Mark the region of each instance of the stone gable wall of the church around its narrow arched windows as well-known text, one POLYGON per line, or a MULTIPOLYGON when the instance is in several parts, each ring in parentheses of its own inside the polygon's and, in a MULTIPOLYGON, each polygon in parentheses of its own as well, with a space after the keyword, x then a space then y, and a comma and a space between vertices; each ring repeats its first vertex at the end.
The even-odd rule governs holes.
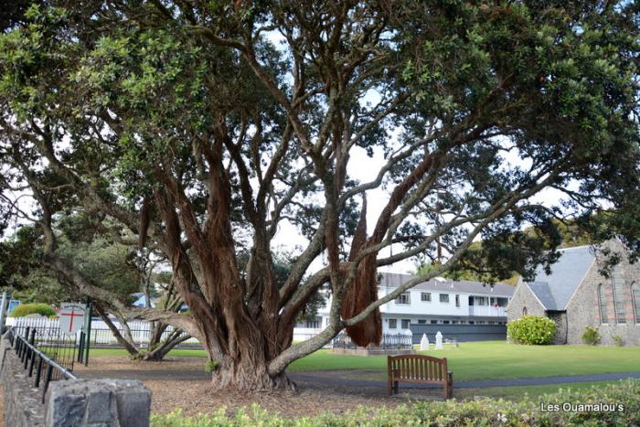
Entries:
MULTIPOLYGON (((619 240, 607 242, 606 247, 613 251, 624 251, 624 247, 619 240)), ((604 277, 600 273, 604 266, 602 258, 598 257, 597 262, 587 272, 581 285, 567 305, 567 342, 569 344, 581 344, 585 326, 592 326, 597 327, 600 331, 601 344, 613 345, 613 336, 620 336, 623 338, 625 346, 640 346, 640 323, 638 323, 640 318, 636 318, 636 316, 640 317, 640 313, 634 313, 631 295, 631 284, 640 281, 640 262, 631 264, 626 257, 623 257, 623 261, 618 264, 624 277, 624 301, 621 304, 624 304, 624 318, 626 321, 624 324, 618 324, 615 319, 613 305, 612 279, 604 277), (601 319, 598 299, 598 286, 601 283, 603 284, 604 304, 606 304, 608 312, 606 319, 601 319)))

